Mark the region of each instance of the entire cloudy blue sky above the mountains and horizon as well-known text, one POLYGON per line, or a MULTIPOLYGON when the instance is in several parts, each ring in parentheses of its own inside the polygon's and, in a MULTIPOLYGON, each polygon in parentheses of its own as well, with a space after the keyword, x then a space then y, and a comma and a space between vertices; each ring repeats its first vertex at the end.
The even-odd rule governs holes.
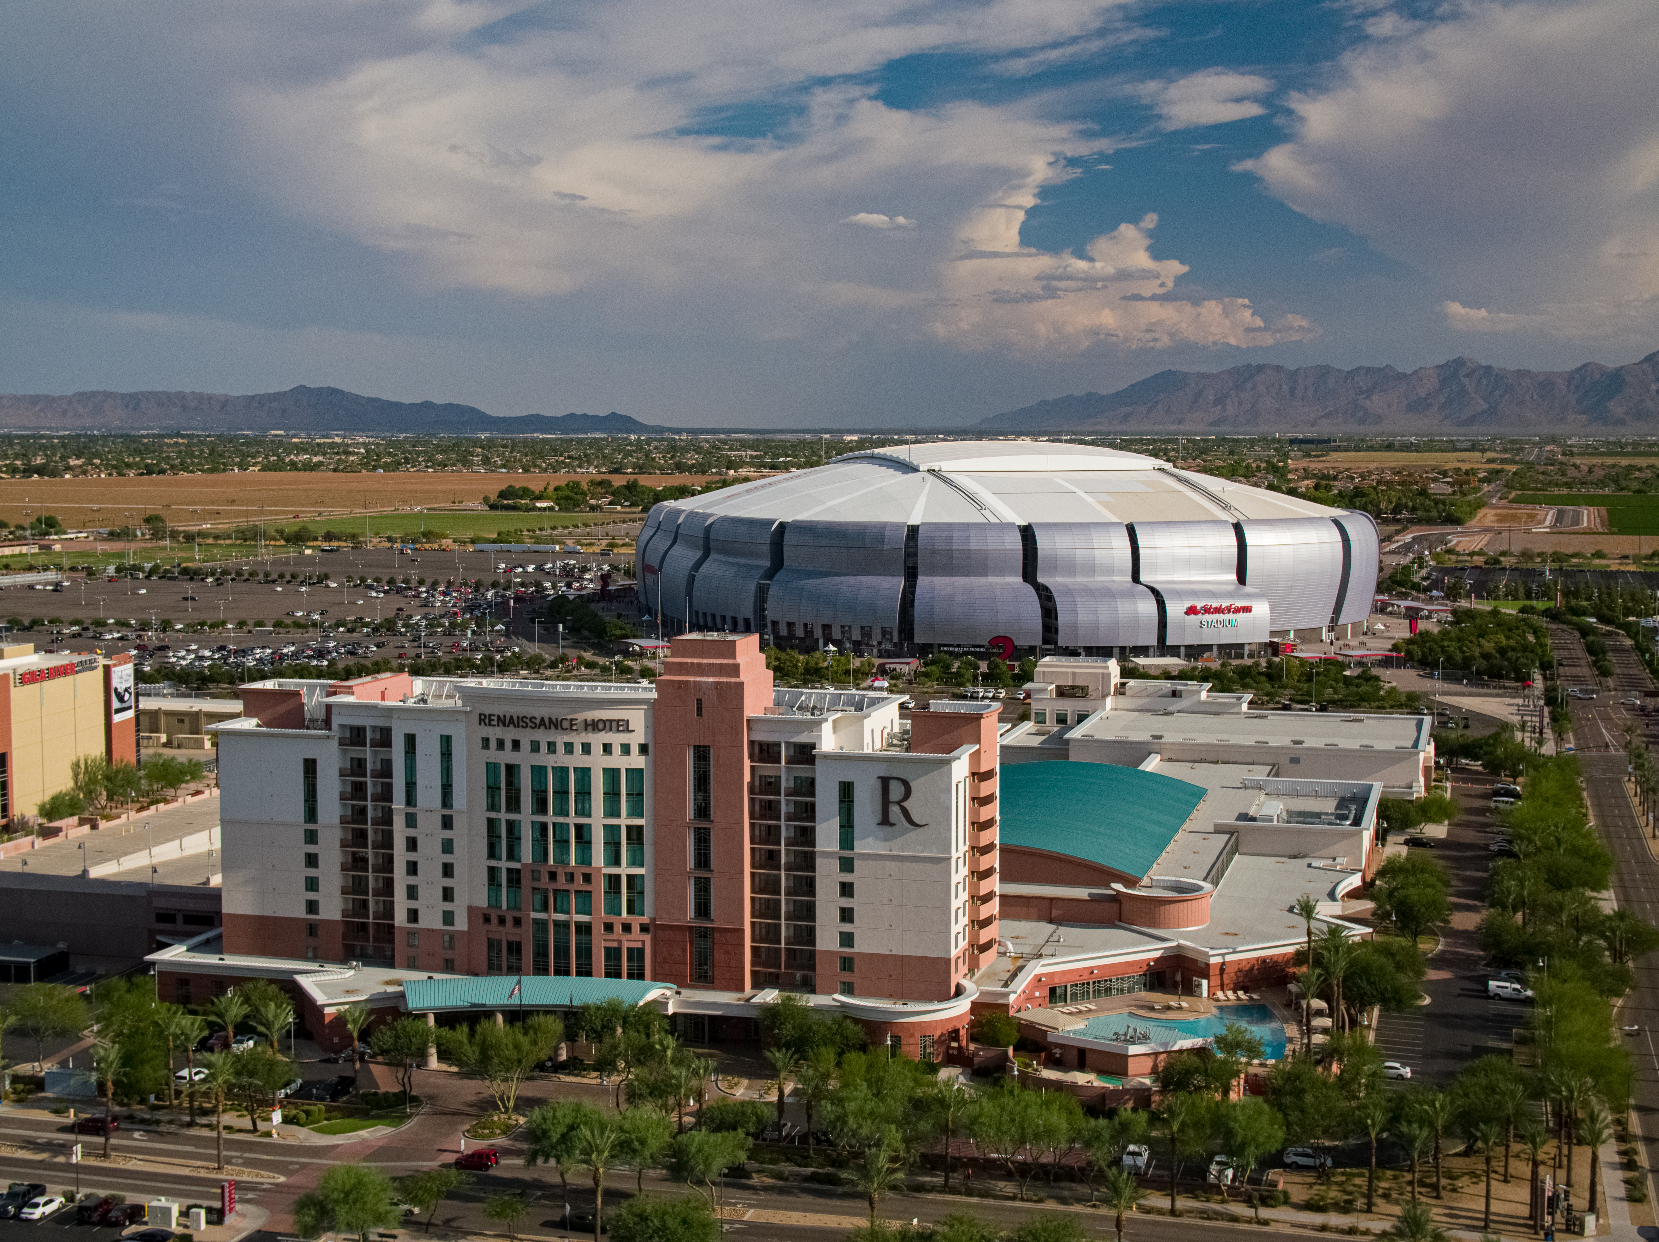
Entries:
POLYGON ((12 7, 0 390, 952 426, 1659 347, 1651 0, 12 7))

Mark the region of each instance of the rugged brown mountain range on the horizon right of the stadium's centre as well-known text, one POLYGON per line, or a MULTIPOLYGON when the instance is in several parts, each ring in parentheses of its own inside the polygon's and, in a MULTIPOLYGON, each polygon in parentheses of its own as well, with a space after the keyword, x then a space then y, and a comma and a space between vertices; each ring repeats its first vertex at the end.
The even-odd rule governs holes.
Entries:
POLYGON ((985 431, 1561 431, 1659 428, 1659 352, 1626 366, 1521 371, 1452 358, 1438 366, 1229 366, 1158 371, 1115 393, 1037 401, 985 431))

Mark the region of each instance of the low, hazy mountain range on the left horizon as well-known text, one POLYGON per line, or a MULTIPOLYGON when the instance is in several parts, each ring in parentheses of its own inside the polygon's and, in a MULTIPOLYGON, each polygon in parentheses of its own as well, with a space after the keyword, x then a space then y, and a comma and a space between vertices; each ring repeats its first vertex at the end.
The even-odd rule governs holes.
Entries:
POLYGON ((12 431, 347 431, 428 436, 650 434, 670 428, 619 415, 503 418, 469 405, 387 401, 343 388, 285 393, 0 393, 0 428, 12 431))

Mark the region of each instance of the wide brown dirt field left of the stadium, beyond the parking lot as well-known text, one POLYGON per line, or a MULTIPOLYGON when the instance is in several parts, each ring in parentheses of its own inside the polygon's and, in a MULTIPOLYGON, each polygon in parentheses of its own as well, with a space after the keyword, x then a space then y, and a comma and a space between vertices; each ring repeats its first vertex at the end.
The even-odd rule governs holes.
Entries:
MULTIPOLYGON (((169 526, 325 517, 476 504, 513 484, 536 488, 592 474, 154 474, 136 479, 0 479, 0 517, 50 512, 73 529, 129 526, 159 512, 169 526)), ((640 483, 707 483, 707 474, 642 474, 640 483)), ((622 479, 619 478, 617 483, 622 479)))

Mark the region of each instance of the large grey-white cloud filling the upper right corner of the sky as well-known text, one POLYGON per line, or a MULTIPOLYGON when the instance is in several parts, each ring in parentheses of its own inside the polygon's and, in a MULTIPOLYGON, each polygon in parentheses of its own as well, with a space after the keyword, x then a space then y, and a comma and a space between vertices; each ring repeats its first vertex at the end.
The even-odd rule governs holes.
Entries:
POLYGON ((1291 141, 1239 167, 1428 274, 1453 328, 1659 328, 1651 0, 1462 3, 1369 30, 1291 99, 1291 141))

